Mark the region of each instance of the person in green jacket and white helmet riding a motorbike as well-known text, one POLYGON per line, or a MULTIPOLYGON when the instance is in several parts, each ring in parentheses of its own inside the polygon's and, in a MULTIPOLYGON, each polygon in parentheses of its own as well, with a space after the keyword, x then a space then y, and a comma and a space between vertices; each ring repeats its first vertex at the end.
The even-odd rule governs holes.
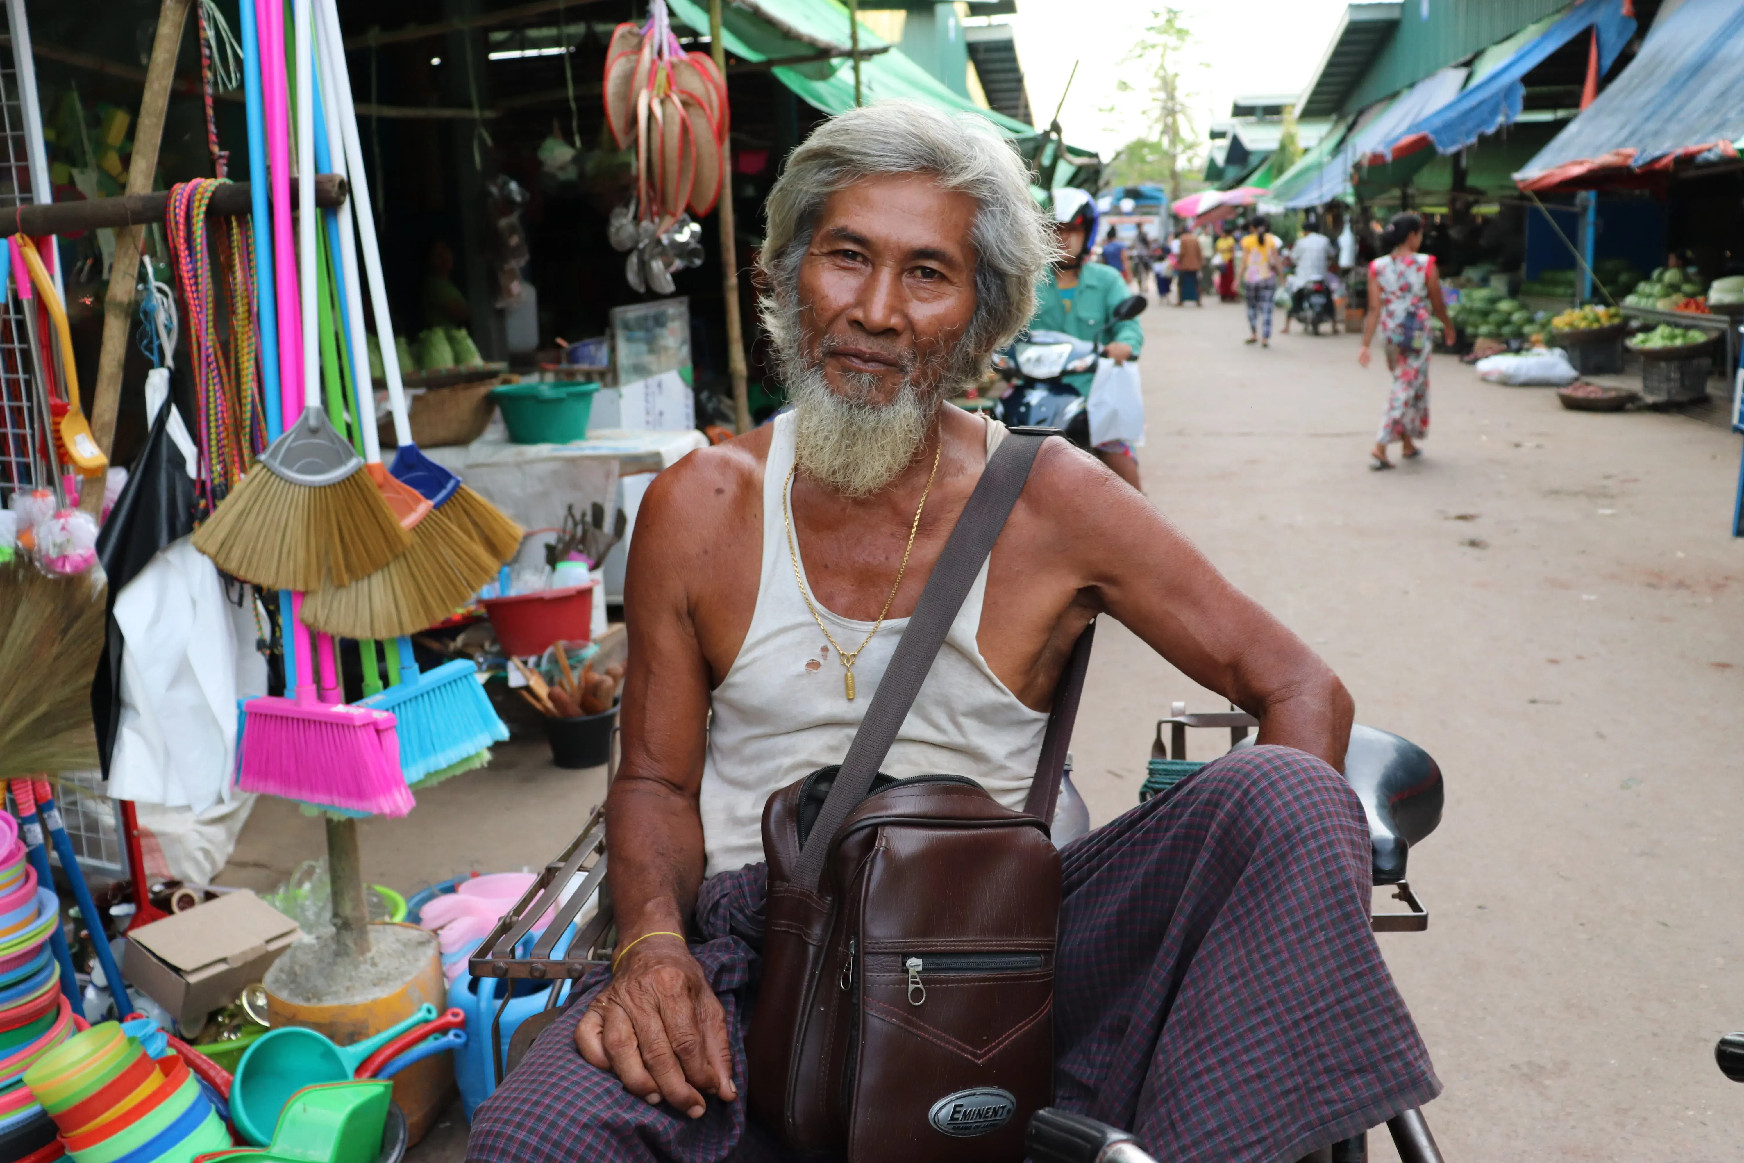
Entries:
MULTIPOLYGON (((1137 319, 1121 319, 1113 328, 1109 316, 1132 295, 1120 272, 1106 263, 1085 262, 1090 241, 1095 237, 1095 199, 1085 190, 1062 188, 1053 192, 1055 230, 1066 253, 1036 288, 1036 314, 1029 321, 1032 331, 1064 331, 1092 343, 1107 342, 1106 354, 1114 363, 1137 359, 1144 347, 1144 330, 1137 319)), ((1090 394, 1093 371, 1062 377, 1080 396, 1090 394)), ((1139 488, 1139 459, 1127 441, 1097 445, 1102 464, 1123 481, 1139 488)))

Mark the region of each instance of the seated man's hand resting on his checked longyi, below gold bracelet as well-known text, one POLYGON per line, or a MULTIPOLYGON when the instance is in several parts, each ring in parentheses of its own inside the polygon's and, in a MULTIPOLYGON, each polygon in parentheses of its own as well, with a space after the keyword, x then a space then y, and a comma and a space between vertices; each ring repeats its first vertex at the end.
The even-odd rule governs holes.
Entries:
POLYGON ((673 936, 626 947, 612 983, 576 1025, 576 1048, 630 1093, 664 1098, 691 1118, 703 1116, 703 1093, 738 1098, 726 1011, 703 966, 673 936))

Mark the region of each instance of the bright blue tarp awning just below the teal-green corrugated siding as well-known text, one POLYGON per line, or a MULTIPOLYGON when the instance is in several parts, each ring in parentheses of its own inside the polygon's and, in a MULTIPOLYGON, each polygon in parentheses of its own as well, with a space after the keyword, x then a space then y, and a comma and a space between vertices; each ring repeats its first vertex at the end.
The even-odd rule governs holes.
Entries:
POLYGON ((1385 141, 1381 152, 1397 159, 1434 145, 1439 153, 1453 153, 1512 124, 1526 105, 1526 73, 1589 30, 1599 37, 1599 71, 1610 71, 1636 30, 1634 17, 1624 16, 1624 5, 1625 0, 1577 0, 1561 19, 1489 68, 1465 92, 1414 120, 1393 141, 1385 141))

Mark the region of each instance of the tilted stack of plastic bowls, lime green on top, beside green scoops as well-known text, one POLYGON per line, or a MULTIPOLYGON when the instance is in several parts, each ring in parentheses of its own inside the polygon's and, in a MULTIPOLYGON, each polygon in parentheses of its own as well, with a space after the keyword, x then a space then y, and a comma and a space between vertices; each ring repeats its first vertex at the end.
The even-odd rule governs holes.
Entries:
POLYGON ((73 1163, 190 1163, 232 1146, 187 1064, 152 1058, 115 1022, 44 1053, 24 1071, 24 1086, 73 1163))

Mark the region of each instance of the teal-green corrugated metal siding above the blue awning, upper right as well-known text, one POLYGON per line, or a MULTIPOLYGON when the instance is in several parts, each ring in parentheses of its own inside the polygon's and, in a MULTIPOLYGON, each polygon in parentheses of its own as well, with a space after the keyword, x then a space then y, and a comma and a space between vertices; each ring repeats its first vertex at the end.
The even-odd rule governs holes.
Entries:
POLYGON ((1393 38, 1345 98, 1343 112, 1355 113, 1568 7, 1568 0, 1407 2, 1393 38))

